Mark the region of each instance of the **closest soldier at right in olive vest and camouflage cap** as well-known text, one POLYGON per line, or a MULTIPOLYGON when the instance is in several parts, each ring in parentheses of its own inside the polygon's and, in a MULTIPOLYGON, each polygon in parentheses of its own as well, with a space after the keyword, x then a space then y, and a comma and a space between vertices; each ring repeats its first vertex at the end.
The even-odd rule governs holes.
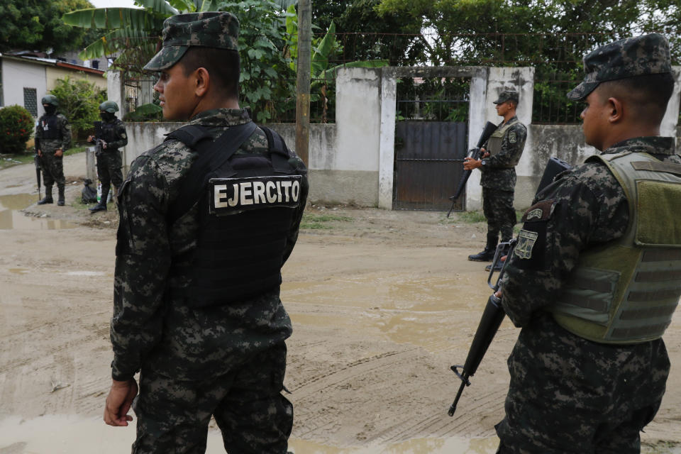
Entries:
POLYGON ((499 453, 638 453, 665 392, 681 295, 681 157, 660 122, 674 80, 659 34, 584 58, 586 143, 602 154, 536 196, 502 281, 523 329, 499 453))

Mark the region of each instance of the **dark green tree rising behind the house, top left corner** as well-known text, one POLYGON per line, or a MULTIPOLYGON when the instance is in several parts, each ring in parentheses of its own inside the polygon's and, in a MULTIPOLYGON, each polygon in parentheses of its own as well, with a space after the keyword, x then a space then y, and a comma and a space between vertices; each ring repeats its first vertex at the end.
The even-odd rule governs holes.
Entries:
POLYGON ((87 31, 65 24, 67 11, 92 7, 87 0, 3 0, 0 2, 0 52, 38 50, 59 53, 79 48, 87 31))

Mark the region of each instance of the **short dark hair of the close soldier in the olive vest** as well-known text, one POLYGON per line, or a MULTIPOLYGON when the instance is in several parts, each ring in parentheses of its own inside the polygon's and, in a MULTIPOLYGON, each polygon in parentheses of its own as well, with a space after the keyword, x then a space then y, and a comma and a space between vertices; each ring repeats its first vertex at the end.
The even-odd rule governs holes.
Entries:
POLYGON ((636 107, 634 115, 639 121, 659 125, 667 111, 674 92, 674 77, 664 74, 646 74, 625 79, 602 82, 604 99, 614 97, 636 107))

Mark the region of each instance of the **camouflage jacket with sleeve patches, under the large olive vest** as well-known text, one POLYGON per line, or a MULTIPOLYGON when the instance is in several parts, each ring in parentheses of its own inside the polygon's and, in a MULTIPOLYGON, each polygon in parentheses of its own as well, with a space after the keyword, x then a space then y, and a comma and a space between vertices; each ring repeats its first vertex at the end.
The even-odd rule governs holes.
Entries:
MULTIPOLYGON (((603 154, 649 153, 681 163, 672 138, 641 137, 612 145, 603 154)), ((599 162, 587 162, 560 174, 537 194, 523 217, 523 230, 536 233, 528 258, 514 253, 502 280, 502 305, 516 326, 527 326, 533 314, 556 301, 580 251, 621 238, 629 223, 624 189, 599 162), (541 210, 541 217, 537 215, 541 210), (535 210, 535 211, 533 211, 535 210), (531 221, 527 213, 533 211, 531 221)), ((522 234, 522 232, 521 232, 522 234)))

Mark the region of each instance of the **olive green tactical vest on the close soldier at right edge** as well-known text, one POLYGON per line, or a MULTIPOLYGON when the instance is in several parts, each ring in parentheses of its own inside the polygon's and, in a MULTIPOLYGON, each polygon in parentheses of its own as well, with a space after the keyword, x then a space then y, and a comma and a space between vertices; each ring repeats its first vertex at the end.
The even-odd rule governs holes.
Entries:
POLYGON ((560 326, 599 343, 662 337, 681 297, 681 165, 645 153, 596 155, 624 189, 622 238, 580 255, 558 302, 560 326))

